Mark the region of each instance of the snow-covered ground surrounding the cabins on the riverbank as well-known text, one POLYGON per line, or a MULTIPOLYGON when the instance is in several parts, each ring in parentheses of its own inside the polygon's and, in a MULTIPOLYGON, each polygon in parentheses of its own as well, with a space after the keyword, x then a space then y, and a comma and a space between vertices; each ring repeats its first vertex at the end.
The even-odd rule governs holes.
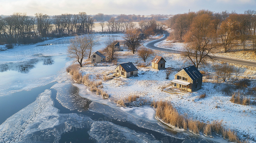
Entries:
MULTIPOLYGON (((157 44, 159 45, 159 44, 157 44)), ((174 49, 179 50, 183 44, 174 43, 174 49)), ((160 46, 162 47, 162 46, 160 46)), ((222 120, 227 128, 236 130, 239 136, 245 135, 251 142, 255 142, 256 137, 256 106, 243 106, 231 103, 231 97, 225 96, 221 89, 224 88, 224 83, 214 83, 213 80, 206 80, 204 77, 203 86, 200 90, 193 93, 186 94, 169 94, 162 91, 162 87, 168 85, 170 80, 174 79, 174 75, 182 68, 191 65, 189 62, 184 62, 184 59, 179 54, 166 53, 155 50, 155 55, 162 56, 166 60, 166 67, 174 68, 170 79, 165 79, 165 70, 153 69, 150 65, 153 58, 146 60, 149 66, 140 68, 138 77, 130 78, 114 78, 112 80, 103 81, 103 76, 112 75, 117 65, 112 63, 98 63, 96 66, 92 64, 85 65, 80 68, 80 71, 85 74, 92 74, 94 80, 102 80, 103 90, 110 95, 110 99, 119 99, 127 97, 130 94, 137 94, 141 98, 147 100, 169 100, 177 108, 181 114, 187 114, 189 117, 198 119, 204 122, 211 122, 213 120, 222 120), (206 93, 206 98, 200 99, 201 94, 206 93), (215 108, 216 105, 219 108, 215 108)), ((131 51, 124 49, 124 51, 117 52, 117 62, 133 62, 135 66, 138 63, 144 63, 138 58, 137 54, 132 54, 131 51)), ((215 62, 216 63, 216 62, 215 62)), ((214 72, 212 70, 212 62, 200 66, 200 70, 214 72)), ((253 67, 233 64, 235 66, 243 67, 243 74, 240 78, 252 78, 251 87, 256 86, 255 77, 256 72, 253 67)), ((217 82, 217 81, 216 81, 217 82)))

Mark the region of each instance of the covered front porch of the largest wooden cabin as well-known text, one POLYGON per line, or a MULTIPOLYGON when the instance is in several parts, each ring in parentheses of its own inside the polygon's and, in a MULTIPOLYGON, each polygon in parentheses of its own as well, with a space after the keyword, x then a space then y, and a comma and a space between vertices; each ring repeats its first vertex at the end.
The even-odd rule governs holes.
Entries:
POLYGON ((190 82, 186 82, 183 80, 171 80, 172 83, 172 89, 179 89, 181 92, 191 92, 190 82))

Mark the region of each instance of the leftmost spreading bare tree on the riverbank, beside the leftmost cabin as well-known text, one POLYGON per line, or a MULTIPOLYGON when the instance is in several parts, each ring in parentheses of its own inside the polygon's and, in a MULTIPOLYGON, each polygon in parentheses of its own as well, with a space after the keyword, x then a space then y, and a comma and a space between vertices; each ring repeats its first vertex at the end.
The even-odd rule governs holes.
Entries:
POLYGON ((86 42, 85 36, 75 36, 74 39, 70 39, 70 45, 68 46, 67 53, 70 58, 75 58, 82 67, 83 58, 89 54, 89 45, 86 42))

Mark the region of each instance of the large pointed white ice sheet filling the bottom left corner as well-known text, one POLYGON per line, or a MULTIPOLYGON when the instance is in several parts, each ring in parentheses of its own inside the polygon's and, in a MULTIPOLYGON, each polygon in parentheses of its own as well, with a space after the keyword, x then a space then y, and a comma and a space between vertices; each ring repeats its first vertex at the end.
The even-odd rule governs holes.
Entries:
POLYGON ((91 125, 92 119, 75 113, 58 114, 51 90, 0 125, 0 142, 58 142, 61 134, 91 125))

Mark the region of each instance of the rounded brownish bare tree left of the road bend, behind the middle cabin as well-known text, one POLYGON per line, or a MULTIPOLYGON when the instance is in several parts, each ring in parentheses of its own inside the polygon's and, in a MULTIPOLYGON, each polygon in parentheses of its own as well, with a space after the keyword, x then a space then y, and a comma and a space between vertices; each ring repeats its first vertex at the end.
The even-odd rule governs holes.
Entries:
POLYGON ((125 40, 125 45, 132 49, 133 54, 136 51, 136 49, 139 47, 140 45, 140 31, 137 28, 130 28, 130 29, 126 29, 126 33, 124 34, 123 39, 125 40))

